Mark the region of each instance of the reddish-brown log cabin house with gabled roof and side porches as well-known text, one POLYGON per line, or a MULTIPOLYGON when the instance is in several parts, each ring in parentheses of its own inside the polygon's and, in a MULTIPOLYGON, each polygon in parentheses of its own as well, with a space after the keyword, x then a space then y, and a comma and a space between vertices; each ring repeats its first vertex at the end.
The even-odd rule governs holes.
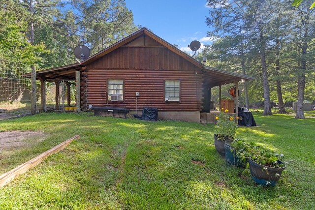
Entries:
POLYGON ((37 71, 36 78, 42 95, 45 80, 76 79, 78 111, 89 105, 131 113, 156 107, 161 119, 197 122, 210 112, 212 87, 253 79, 206 66, 145 28, 81 63, 37 71))

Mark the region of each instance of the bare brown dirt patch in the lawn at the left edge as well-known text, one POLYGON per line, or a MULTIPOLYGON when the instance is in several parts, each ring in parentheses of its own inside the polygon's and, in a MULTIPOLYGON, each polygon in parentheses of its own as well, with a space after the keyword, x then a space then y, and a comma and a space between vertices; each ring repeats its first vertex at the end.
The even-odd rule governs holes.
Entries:
POLYGON ((29 139, 35 138, 37 141, 42 141, 44 137, 44 133, 34 131, 0 132, 0 151, 21 148, 30 143, 27 141, 29 139))

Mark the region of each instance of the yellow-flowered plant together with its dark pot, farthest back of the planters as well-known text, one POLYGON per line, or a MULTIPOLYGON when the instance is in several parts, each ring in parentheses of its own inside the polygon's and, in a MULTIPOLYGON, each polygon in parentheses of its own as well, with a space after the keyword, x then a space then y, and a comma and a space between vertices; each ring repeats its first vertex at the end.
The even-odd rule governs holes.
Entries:
MULTIPOLYGON (((235 139, 235 133, 237 129, 237 124, 233 116, 228 114, 228 110, 221 109, 221 113, 216 117, 217 124, 215 126, 215 148, 216 150, 224 156, 224 142, 233 141, 235 139)), ((238 120, 238 117, 236 118, 238 120)))

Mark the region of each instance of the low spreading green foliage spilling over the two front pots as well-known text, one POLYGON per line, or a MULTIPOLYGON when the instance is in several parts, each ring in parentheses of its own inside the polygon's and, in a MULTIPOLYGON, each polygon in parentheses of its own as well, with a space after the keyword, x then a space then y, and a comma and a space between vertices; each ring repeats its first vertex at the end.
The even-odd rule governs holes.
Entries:
POLYGON ((253 142, 246 143, 241 140, 234 141, 232 146, 236 150, 236 157, 238 157, 239 162, 243 164, 246 164, 249 158, 260 165, 274 168, 284 167, 284 164, 278 162, 278 160, 284 159, 283 154, 278 154, 261 146, 257 146, 253 142))

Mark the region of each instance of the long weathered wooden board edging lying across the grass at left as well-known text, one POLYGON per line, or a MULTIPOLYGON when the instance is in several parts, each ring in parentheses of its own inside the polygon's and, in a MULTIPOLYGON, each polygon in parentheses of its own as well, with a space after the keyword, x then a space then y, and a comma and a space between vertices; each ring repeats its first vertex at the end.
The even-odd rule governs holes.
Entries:
POLYGON ((23 163, 22 165, 12 169, 9 172, 6 172, 5 174, 2 174, 0 176, 0 188, 3 187, 5 184, 9 183, 11 180, 13 180, 15 177, 19 176, 20 174, 23 174, 27 172, 29 169, 35 167, 40 162, 42 162, 45 158, 49 157, 52 154, 55 154, 59 152, 60 150, 63 150, 66 146, 68 146, 74 139, 80 139, 80 135, 75 135, 71 137, 68 140, 65 140, 63 143, 57 145, 56 147, 47 150, 37 157, 34 157, 33 159, 23 163))

